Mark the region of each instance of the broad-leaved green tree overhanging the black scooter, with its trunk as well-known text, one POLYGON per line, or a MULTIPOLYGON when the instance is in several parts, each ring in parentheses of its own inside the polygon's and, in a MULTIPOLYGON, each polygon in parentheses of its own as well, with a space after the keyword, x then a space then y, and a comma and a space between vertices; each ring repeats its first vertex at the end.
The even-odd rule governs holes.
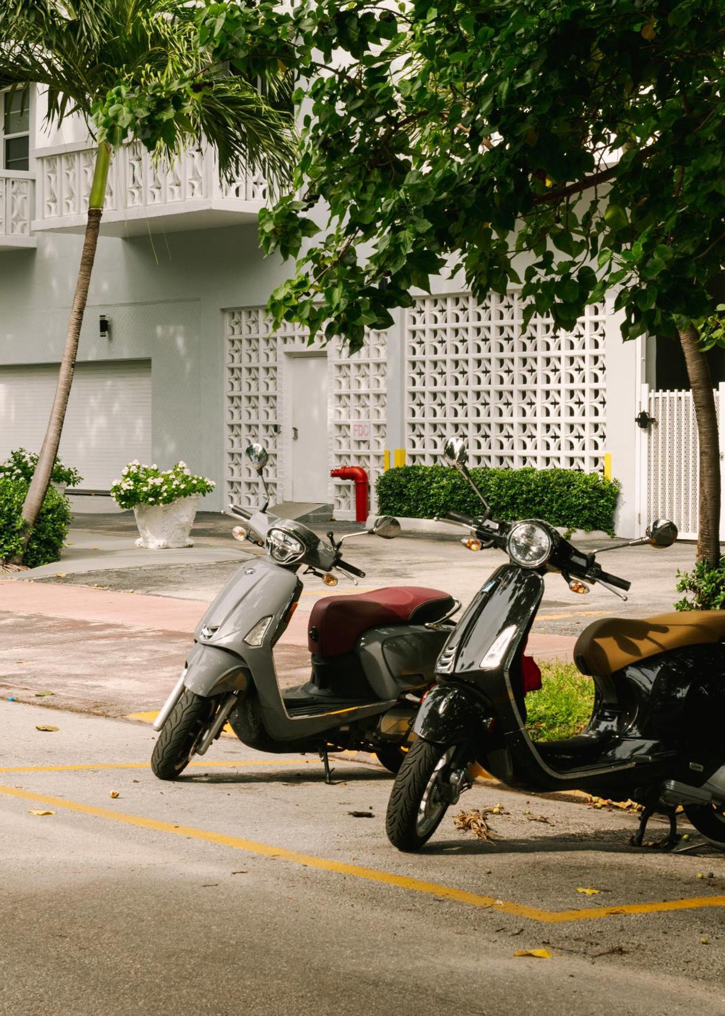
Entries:
MULTIPOLYGON (((275 317, 355 348, 435 273, 462 273, 479 300, 520 281, 526 321, 562 328, 613 289, 625 339, 684 352, 698 556, 716 563, 700 328, 725 244, 720 0, 307 0, 294 19, 301 157, 260 223, 268 251, 298 258, 275 317)), ((235 33, 217 40, 234 49, 235 33)))

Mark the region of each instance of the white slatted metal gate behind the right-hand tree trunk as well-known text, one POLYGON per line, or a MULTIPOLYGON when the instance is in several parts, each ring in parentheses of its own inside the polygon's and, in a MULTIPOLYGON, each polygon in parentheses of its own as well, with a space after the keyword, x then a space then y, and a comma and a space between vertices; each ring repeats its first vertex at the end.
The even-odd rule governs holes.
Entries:
MULTIPOLYGON (((725 385, 715 392, 720 448, 725 449, 720 412, 725 385)), ((690 391, 650 391, 642 386, 641 409, 651 420, 643 431, 640 484, 640 525, 670 518, 682 539, 697 539, 700 500, 698 427, 690 391)), ((720 455, 722 459, 722 452, 720 455)), ((723 532, 722 518, 720 531, 723 532)))

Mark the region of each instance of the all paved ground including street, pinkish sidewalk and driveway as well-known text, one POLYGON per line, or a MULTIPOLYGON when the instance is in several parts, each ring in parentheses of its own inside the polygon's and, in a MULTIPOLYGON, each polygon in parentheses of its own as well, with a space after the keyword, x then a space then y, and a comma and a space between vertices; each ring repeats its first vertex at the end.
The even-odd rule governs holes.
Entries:
MULTIPOLYGON (((202 517, 194 548, 144 552, 130 519, 85 518, 57 565, 0 580, 2 1016, 725 1016, 725 860, 691 829, 694 854, 636 849, 634 814, 483 780, 461 807, 502 806, 491 842, 449 815, 403 855, 368 756, 338 756, 328 786, 318 759, 227 735, 158 782, 150 719, 255 553, 229 527, 202 517)), ((345 557, 368 574, 334 592, 409 583, 465 604, 505 559, 459 539, 360 534, 345 557)), ((609 553, 627 602, 549 576, 530 650, 571 658, 591 620, 671 610, 694 557, 609 553)), ((308 582, 275 648, 282 685, 306 680, 309 612, 331 591, 308 582)))

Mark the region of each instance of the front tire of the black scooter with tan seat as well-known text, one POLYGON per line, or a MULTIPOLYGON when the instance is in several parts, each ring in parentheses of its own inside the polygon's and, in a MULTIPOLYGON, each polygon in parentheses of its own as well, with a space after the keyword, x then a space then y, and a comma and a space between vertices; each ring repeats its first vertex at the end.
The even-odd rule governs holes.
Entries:
POLYGON ((418 738, 405 756, 388 802, 385 831, 399 850, 418 850, 426 843, 448 811, 437 797, 437 771, 450 761, 455 748, 432 745, 418 738))

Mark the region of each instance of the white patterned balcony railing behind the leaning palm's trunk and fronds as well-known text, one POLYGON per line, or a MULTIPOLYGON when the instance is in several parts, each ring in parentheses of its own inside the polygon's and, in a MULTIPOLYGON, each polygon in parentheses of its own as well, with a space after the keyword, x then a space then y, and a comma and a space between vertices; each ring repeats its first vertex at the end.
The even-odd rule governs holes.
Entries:
MULTIPOLYGON (((37 151, 35 231, 85 228, 94 150, 67 144, 37 151)), ((145 148, 126 145, 114 156, 102 230, 117 237, 255 221, 267 201, 261 177, 222 186, 211 151, 187 151, 171 167, 155 166, 145 148)))

